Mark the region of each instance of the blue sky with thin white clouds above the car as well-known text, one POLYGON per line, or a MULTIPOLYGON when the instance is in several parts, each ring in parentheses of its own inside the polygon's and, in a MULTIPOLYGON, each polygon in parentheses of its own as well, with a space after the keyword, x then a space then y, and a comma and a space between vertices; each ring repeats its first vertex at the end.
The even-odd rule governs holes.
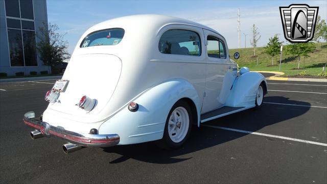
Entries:
POLYGON ((268 39, 280 34, 285 41, 279 6, 290 4, 319 6, 323 19, 327 17, 326 1, 58 1, 48 0, 48 21, 57 24, 60 31, 67 33, 68 52, 74 51, 77 41, 91 26, 115 17, 133 14, 162 14, 186 18, 199 22, 220 32, 228 47, 238 48, 237 10, 241 11, 241 48, 250 47, 251 27, 259 28, 264 46, 268 39))

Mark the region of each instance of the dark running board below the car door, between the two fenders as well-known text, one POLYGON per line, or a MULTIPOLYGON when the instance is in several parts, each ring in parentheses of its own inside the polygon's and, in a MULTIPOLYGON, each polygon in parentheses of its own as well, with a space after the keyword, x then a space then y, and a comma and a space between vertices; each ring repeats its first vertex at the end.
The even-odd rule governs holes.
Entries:
POLYGON ((242 110, 246 110, 249 108, 255 107, 255 105, 251 105, 248 107, 229 107, 229 106, 223 106, 219 109, 204 113, 201 115, 201 123, 214 120, 216 118, 224 117, 232 113, 236 113, 242 110))

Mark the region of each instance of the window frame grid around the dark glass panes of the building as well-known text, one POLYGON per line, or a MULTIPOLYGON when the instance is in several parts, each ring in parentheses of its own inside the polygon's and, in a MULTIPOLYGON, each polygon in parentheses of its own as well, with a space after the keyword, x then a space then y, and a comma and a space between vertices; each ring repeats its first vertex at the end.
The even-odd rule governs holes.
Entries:
MULTIPOLYGON (((5 0, 6 1, 6 0, 5 0)), ((36 54, 36 65, 35 66, 27 66, 25 63, 25 51, 24 51, 24 38, 23 38, 23 34, 22 31, 34 31, 35 34, 35 47, 36 47, 36 27, 35 27, 35 12, 34 12, 34 0, 32 0, 32 7, 33 7, 33 18, 34 19, 28 19, 28 18, 21 18, 21 12, 20 12, 20 1, 18 0, 18 8, 19 8, 19 18, 17 17, 12 17, 12 16, 7 16, 7 12, 6 12, 6 2, 4 1, 4 7, 5 7, 5 18, 6 18, 6 34, 7 34, 7 44, 8 44, 8 56, 9 56, 9 65, 10 67, 38 67, 39 66, 39 62, 38 62, 38 54, 37 54, 37 49, 35 48, 35 54, 36 54), (11 19, 16 19, 20 21, 20 29, 17 28, 8 28, 7 25, 7 18, 11 18, 11 19), (33 21, 34 24, 34 30, 29 30, 29 29, 22 29, 22 25, 21 25, 21 21, 22 20, 26 20, 26 21, 33 21), (11 65, 11 58, 10 58, 10 47, 9 47, 9 37, 8 37, 8 29, 15 29, 15 30, 20 30, 21 33, 21 42, 22 42, 22 56, 23 56, 23 63, 24 66, 12 66, 11 65)), ((7 0, 8 1, 8 0, 7 0)))

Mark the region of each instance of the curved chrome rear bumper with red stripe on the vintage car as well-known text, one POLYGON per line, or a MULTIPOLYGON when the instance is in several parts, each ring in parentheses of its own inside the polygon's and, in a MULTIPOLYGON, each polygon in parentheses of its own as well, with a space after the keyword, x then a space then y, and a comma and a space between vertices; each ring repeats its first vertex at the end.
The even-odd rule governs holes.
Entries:
POLYGON ((65 130, 61 127, 55 127, 43 122, 40 118, 35 118, 34 111, 25 113, 24 123, 36 130, 39 130, 43 136, 55 136, 66 142, 85 147, 110 147, 119 143, 120 137, 118 134, 88 134, 76 133, 65 130))

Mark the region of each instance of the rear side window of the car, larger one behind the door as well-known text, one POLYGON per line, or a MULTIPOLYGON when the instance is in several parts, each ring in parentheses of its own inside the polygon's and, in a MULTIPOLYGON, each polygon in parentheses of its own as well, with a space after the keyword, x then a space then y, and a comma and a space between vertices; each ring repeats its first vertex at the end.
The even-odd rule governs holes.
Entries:
POLYGON ((162 34, 158 49, 163 54, 200 56, 200 36, 194 31, 168 30, 162 34))

